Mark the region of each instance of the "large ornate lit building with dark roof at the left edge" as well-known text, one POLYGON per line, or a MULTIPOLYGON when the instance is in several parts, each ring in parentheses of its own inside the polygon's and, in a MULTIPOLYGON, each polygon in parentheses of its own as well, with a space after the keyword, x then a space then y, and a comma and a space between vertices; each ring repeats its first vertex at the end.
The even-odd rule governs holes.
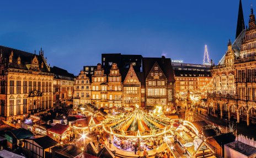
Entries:
POLYGON ((39 55, 0 46, 2 118, 23 118, 28 113, 51 109, 53 106, 53 80, 50 66, 39 55))

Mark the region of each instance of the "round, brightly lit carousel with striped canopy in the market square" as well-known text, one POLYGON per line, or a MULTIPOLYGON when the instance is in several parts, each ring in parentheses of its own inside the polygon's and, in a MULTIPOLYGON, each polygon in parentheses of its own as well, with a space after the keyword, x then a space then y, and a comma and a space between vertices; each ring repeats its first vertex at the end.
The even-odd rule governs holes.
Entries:
POLYGON ((165 146, 163 139, 171 128, 162 117, 141 109, 106 118, 102 126, 110 134, 109 144, 113 144, 114 148, 130 153, 146 149, 153 151, 151 155, 165 146))

